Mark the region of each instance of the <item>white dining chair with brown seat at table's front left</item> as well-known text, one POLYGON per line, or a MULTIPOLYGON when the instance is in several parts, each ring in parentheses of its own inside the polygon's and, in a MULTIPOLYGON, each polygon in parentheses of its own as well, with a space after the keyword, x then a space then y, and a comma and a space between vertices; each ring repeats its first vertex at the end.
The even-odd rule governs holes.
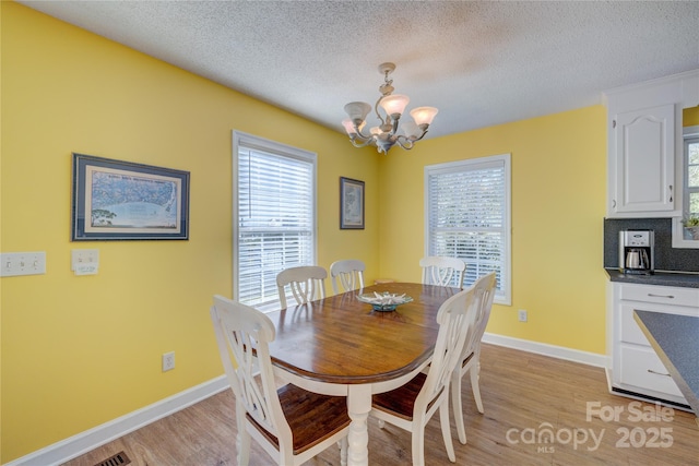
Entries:
POLYGON ((276 387, 269 351, 275 330, 261 311, 214 296, 211 319, 236 399, 237 464, 248 465, 254 439, 277 465, 286 466, 306 463, 340 442, 341 464, 346 465, 351 422, 346 397, 292 384, 276 387))

